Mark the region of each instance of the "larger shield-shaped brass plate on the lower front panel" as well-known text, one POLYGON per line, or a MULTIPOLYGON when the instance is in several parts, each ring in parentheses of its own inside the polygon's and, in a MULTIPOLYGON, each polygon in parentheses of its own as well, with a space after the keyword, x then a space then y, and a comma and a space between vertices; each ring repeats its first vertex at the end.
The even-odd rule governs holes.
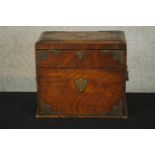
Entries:
POLYGON ((77 79, 75 80, 75 85, 76 85, 76 88, 80 91, 80 92, 83 92, 86 87, 87 87, 87 84, 88 84, 88 81, 87 79, 77 79))

